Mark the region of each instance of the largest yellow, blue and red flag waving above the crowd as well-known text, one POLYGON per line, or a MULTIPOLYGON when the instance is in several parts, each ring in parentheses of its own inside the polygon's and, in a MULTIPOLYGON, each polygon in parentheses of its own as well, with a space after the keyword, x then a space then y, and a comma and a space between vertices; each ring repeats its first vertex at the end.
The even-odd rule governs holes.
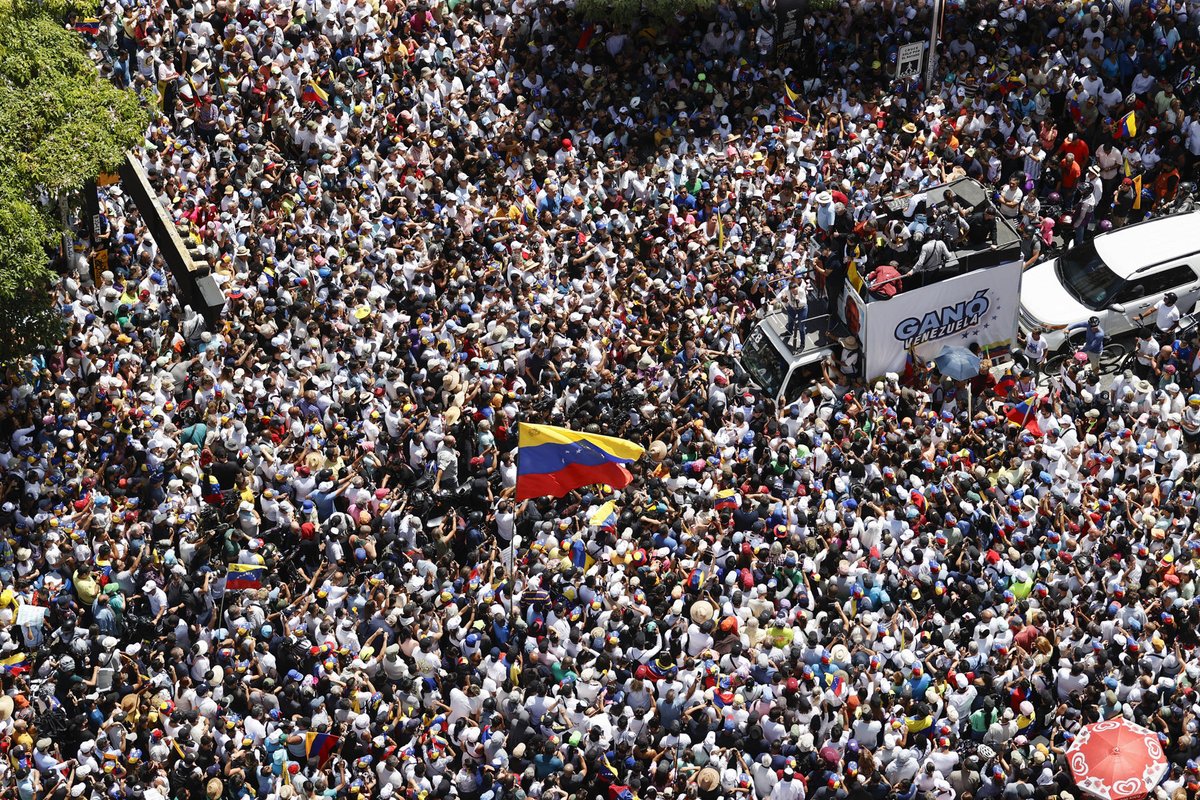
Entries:
POLYGON ((625 439, 581 433, 553 425, 521 423, 517 450, 517 500, 551 494, 560 498, 590 483, 624 488, 634 480, 625 464, 646 449, 625 439))

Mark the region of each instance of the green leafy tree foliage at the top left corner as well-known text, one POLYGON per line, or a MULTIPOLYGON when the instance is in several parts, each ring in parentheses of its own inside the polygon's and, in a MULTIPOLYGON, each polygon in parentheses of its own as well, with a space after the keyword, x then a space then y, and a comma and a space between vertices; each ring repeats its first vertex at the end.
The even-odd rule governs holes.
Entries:
POLYGON ((115 169, 148 115, 101 78, 58 16, 78 4, 0 0, 0 362, 61 336, 49 288, 58 199, 115 169))

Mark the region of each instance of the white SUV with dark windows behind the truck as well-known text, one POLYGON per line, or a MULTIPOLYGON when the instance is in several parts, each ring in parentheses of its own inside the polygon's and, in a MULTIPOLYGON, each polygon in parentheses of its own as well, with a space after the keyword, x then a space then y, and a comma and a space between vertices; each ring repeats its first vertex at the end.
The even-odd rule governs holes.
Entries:
POLYGON ((1099 317, 1104 361, 1115 363, 1128 351, 1130 320, 1168 291, 1181 313, 1200 300, 1200 211, 1098 234, 1026 270, 1021 332, 1042 329, 1050 355, 1062 356, 1082 344, 1088 317, 1099 317))

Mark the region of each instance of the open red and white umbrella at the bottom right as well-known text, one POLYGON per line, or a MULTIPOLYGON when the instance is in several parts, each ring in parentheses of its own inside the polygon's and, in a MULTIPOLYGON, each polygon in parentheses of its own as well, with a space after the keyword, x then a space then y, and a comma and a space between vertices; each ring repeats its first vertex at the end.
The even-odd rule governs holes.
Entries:
POLYGON ((1145 796, 1168 768, 1158 734, 1124 717, 1084 726, 1067 763, 1075 786, 1103 800, 1145 796))

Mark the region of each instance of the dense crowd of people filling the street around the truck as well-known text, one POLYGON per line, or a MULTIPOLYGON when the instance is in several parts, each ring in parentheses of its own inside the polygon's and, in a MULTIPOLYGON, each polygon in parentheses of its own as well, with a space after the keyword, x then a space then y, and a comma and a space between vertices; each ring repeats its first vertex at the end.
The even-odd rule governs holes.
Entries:
POLYGON ((950 4, 928 92, 923 0, 797 46, 731 0, 101 12, 226 306, 107 187, 67 339, 8 371, 5 798, 1066 800, 1112 716, 1200 794, 1200 342, 985 368, 970 411, 851 339, 782 401, 737 360, 971 236, 883 198, 973 178, 1031 261, 1044 206, 1081 241, 1169 203, 1196 4, 950 4), (647 457, 517 501, 518 422, 647 457))

